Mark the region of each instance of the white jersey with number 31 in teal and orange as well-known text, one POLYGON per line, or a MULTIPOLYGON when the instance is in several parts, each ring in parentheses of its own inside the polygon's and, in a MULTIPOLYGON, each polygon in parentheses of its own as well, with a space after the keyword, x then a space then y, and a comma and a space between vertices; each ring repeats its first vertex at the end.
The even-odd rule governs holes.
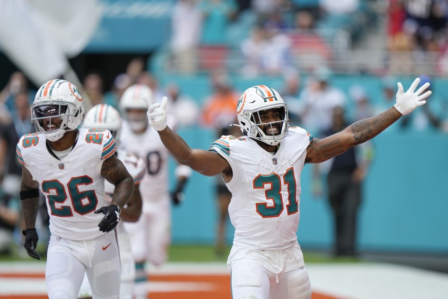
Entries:
POLYGON ((300 177, 312 137, 290 127, 275 155, 247 136, 222 136, 210 146, 233 172, 229 216, 233 244, 258 250, 281 250, 297 242, 300 177))

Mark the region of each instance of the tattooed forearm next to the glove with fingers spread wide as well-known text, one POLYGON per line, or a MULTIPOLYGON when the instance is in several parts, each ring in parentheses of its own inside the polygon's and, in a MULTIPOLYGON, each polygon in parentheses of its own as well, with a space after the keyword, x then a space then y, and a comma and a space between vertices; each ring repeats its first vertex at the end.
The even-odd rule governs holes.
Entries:
POLYGON ((348 129, 352 132, 356 145, 374 138, 401 116, 402 114, 395 107, 391 107, 377 116, 353 123, 348 129))

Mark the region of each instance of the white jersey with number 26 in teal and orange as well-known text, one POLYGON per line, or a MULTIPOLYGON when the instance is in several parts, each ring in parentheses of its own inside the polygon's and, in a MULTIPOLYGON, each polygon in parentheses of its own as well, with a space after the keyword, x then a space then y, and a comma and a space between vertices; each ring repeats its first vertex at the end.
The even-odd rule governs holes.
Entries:
POLYGON ((89 240, 102 234, 98 224, 107 206, 101 167, 116 151, 108 130, 79 129, 72 151, 62 160, 47 148, 45 134, 24 135, 17 158, 40 185, 50 215, 50 233, 69 240, 89 240))

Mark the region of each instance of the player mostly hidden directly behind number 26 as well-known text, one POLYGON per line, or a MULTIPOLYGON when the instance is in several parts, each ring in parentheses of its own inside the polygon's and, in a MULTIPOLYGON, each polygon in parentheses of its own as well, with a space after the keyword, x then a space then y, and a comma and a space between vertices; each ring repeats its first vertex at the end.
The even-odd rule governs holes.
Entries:
MULTIPOLYGON (((84 118, 82 126, 85 128, 109 130, 116 140, 117 147, 119 147, 121 124, 122 120, 120 114, 114 107, 107 104, 98 104, 89 110, 84 118)), ((145 174, 145 161, 123 149, 116 151, 116 154, 134 179, 135 185, 131 198, 121 210, 120 218, 126 222, 135 222, 139 219, 142 213, 142 197, 140 195, 139 185, 145 174)), ((104 188, 106 198, 111 200, 114 186, 106 181, 104 188)), ((118 245, 120 247, 121 263, 120 299, 132 299, 135 279, 135 263, 131 252, 129 237, 124 229, 123 222, 119 222, 116 226, 116 233, 118 236, 118 245)), ((85 275, 78 298, 89 298, 91 296, 92 291, 87 275, 85 275)))

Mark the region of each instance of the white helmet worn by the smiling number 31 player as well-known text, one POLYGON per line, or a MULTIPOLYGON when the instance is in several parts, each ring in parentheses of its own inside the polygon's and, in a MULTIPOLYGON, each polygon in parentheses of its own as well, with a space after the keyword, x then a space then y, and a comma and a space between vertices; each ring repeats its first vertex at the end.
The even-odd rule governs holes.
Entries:
POLYGON ((288 107, 279 93, 266 86, 257 85, 246 89, 237 103, 237 118, 241 131, 250 138, 277 145, 288 132, 288 107), (279 121, 261 123, 260 111, 280 109, 279 121), (263 132, 261 125, 270 125, 272 134, 263 132), (274 133, 275 127, 278 132, 274 133))

